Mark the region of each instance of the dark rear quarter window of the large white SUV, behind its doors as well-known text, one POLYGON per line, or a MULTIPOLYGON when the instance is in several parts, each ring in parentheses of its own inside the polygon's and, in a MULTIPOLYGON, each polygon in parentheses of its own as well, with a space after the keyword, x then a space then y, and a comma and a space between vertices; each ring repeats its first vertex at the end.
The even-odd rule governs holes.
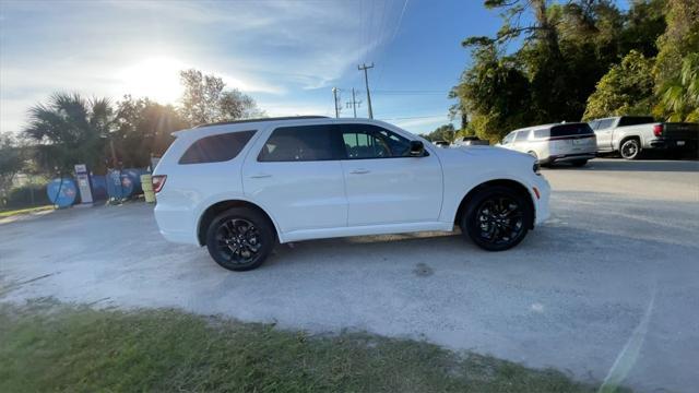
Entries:
POLYGON ((252 138, 254 131, 230 132, 204 136, 179 158, 179 164, 220 163, 235 158, 252 138))

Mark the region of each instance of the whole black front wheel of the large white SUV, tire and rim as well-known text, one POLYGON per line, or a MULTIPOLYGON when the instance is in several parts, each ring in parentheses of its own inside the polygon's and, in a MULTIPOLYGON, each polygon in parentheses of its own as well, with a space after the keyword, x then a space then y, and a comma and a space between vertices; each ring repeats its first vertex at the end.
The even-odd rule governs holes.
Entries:
POLYGON ((470 201, 461 217, 462 234, 484 250, 511 249, 524 239, 534 219, 532 204, 525 198, 529 196, 508 187, 484 189, 470 201), (507 213, 513 209, 512 204, 516 210, 507 213), (516 217, 516 222, 512 222, 512 217, 516 217))

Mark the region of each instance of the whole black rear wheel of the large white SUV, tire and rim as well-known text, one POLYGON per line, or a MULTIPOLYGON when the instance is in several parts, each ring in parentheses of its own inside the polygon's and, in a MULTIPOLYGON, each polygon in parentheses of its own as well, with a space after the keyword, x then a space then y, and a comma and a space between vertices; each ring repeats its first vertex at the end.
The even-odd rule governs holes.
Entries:
POLYGON ((260 212, 233 207, 206 229, 209 254, 222 267, 244 272, 259 267, 274 248, 274 228, 260 212))

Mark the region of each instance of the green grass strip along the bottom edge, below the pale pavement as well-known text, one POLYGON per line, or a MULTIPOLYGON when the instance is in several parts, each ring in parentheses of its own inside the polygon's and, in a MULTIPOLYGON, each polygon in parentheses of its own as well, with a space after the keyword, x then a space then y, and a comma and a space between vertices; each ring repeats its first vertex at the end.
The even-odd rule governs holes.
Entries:
POLYGON ((424 342, 309 336, 174 310, 0 303, 0 391, 594 392, 424 342))

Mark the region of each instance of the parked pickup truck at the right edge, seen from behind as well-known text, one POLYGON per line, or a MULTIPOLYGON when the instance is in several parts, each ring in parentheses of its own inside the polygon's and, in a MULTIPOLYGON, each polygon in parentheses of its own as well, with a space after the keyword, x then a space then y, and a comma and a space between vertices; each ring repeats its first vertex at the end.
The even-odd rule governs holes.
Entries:
POLYGON ((645 150, 697 152, 699 124, 657 122, 650 116, 620 116, 590 121, 597 152, 637 159, 645 150))

